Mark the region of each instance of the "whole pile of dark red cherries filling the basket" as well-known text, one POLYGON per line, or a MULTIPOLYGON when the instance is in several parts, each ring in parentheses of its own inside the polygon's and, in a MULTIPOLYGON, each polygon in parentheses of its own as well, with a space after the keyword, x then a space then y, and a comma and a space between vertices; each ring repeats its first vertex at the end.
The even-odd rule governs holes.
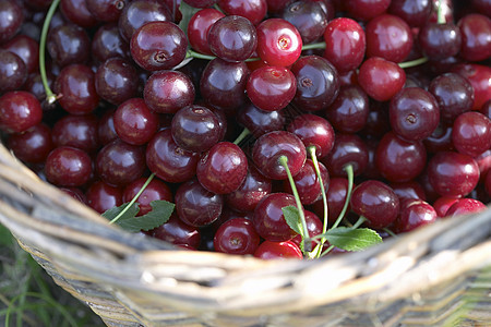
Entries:
POLYGON ((290 206, 382 238, 487 208, 490 1, 182 1, 0 0, 13 154, 100 214, 173 203, 151 237, 264 258, 325 241, 290 206))

